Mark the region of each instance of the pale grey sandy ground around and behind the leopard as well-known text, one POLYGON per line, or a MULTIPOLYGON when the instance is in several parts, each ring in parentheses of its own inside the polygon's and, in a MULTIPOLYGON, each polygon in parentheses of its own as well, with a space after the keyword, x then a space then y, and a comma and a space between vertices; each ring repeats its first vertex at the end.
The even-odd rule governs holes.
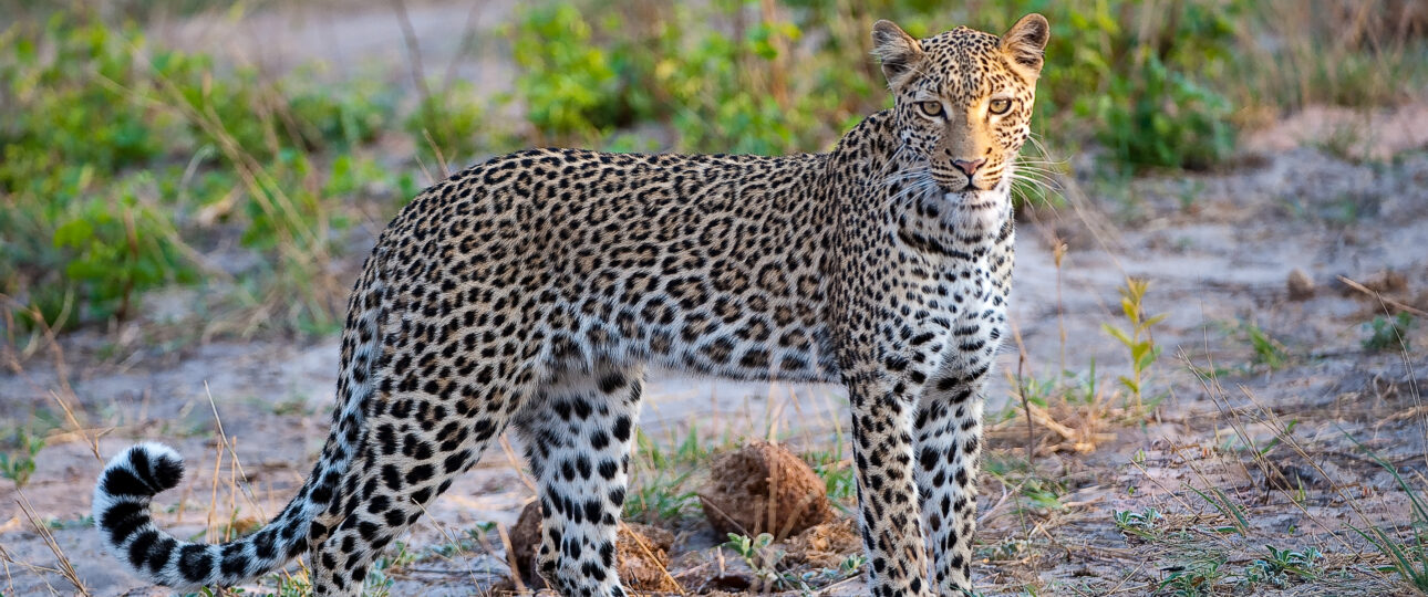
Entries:
MULTIPOLYGON (((456 48, 470 28, 468 14, 477 30, 490 30, 510 4, 478 3, 470 13, 447 4, 414 6, 418 36, 440 40, 421 48, 427 71, 451 68, 458 77, 490 80, 491 88, 503 88, 503 78, 508 85, 510 67, 501 60, 467 64, 451 57, 460 56, 456 48)), ((180 46, 238 44, 247 50, 236 51, 274 67, 330 57, 340 64, 338 76, 343 68, 406 63, 393 54, 403 46, 390 7, 377 4, 344 19, 254 14, 238 19, 238 27, 191 21, 161 36, 180 46), (253 53, 254 46, 263 51, 253 53)), ((1405 494, 1364 456, 1365 447, 1411 484, 1428 486, 1428 410, 1415 373, 1428 370, 1428 325, 1422 325, 1428 318, 1409 331, 1411 351, 1364 348, 1365 323, 1375 316, 1401 305, 1428 308, 1428 154, 1422 138, 1404 133, 1404 123, 1421 123, 1424 113, 1408 107, 1369 118, 1369 130, 1397 131, 1372 135, 1395 140, 1387 157, 1335 152, 1341 144, 1327 144, 1324 135, 1342 127, 1322 120, 1309 125, 1302 118, 1311 117, 1297 117, 1251 138, 1232 170, 1144 177, 1115 188, 1082 181, 1065 191, 1067 207, 1027 214, 1018 231, 1017 342, 1001 355, 988 396, 991 473, 982 482, 974 564, 980 590, 1170 594, 1174 586, 1164 583, 1204 560, 1222 560, 1225 573, 1208 586, 1217 593, 1407 590, 1374 571, 1382 560, 1349 526, 1401 530, 1408 521, 1405 494), (1328 133, 1307 133, 1314 127, 1328 133), (1297 269, 1314 288, 1291 298, 1287 279, 1297 269), (1155 405, 1150 417, 1131 417, 1118 407, 1124 396, 1115 395, 1114 379, 1128 372, 1128 358, 1101 329, 1125 325, 1117 289, 1128 275, 1150 281, 1145 308, 1167 316, 1154 328, 1162 353, 1148 372, 1145 396, 1155 405), (1338 276, 1381 291, 1382 299, 1338 276), (1284 363, 1255 362, 1250 326, 1281 346, 1284 363), (1052 407, 1051 417, 1068 433, 1038 425, 1030 473, 1000 466, 1024 460, 1028 445, 1022 419, 1004 422, 1020 410, 1014 388, 1055 379, 1061 370, 1070 372, 1062 379, 1084 382, 1092 363, 1102 396, 1097 403, 1104 407, 1052 407), (1212 375, 1198 376, 1191 368, 1212 375), (1091 410, 1098 415, 1085 415, 1091 410), (1078 429, 1098 435, 1077 436, 1078 429), (1261 452, 1262 457, 1254 456, 1261 452), (1028 500, 1028 479, 1054 480, 1054 504, 1028 500), (1214 490, 1232 506, 1217 506, 1214 490), (1147 507, 1162 514, 1150 539, 1117 527, 1115 512, 1147 507), (1317 547, 1324 573, 1289 577, 1284 587, 1237 584, 1255 559, 1265 557, 1265 544, 1317 547)), ((154 319, 166 305, 183 301, 180 292, 146 305, 154 319)), ((84 519, 101 460, 84 436, 99 436, 104 457, 139 439, 174 445, 190 459, 190 476, 159 497, 157 517, 178 537, 207 531, 208 539, 224 523, 247 529, 277 512, 326 437, 337 372, 334 339, 156 343, 136 323, 81 331, 60 342, 67 351, 63 360, 41 343, 20 355, 21 373, 0 376, 4 422, 24 423, 34 413, 59 419, 54 396, 73 395, 84 429, 49 437, 23 494, 0 482, 4 596, 74 593, 19 500, 27 500, 91 594, 166 594, 101 554, 84 519), (227 455, 218 460, 220 420, 241 472, 227 455)), ((785 443, 803 447, 847 429, 841 390, 828 386, 733 385, 655 372, 647 396, 644 430, 664 443, 694 423, 707 436, 765 436, 773 427, 785 443)), ((493 450, 430 506, 430 516, 406 540, 420 550, 450 543, 480 523, 510 526, 531 496, 516 462, 493 450)), ((697 520, 678 530, 671 573, 710 569, 718 554, 708 547, 718 537, 697 520)), ((466 553, 423 557, 394 571, 391 594, 484 594, 507 569, 498 534, 477 534, 481 544, 466 553)), ((707 576, 681 581, 697 588, 707 576)), ((824 594, 863 593, 853 578, 824 594)))

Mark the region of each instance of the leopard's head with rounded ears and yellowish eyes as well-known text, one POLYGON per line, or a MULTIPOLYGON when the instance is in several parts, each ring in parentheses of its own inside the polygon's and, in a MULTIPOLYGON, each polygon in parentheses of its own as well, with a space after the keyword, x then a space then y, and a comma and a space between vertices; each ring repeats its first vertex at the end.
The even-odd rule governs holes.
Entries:
POLYGON ((987 191, 1005 201, 1012 162, 1031 133, 1048 33, 1040 14, 1002 37, 957 27, 915 40, 890 21, 874 27, 901 151, 925 164, 947 201, 978 204, 987 191))

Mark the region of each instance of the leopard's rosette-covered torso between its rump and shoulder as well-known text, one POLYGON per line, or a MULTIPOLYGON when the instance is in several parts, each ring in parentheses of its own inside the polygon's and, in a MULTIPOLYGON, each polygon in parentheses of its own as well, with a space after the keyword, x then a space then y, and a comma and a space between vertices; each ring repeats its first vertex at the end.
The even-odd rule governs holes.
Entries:
POLYGON ((430 325, 483 336, 461 349, 534 351, 541 372, 835 380, 831 205, 810 184, 825 168, 823 154, 521 151, 430 188, 380 242, 398 288, 430 291, 416 294, 430 325))

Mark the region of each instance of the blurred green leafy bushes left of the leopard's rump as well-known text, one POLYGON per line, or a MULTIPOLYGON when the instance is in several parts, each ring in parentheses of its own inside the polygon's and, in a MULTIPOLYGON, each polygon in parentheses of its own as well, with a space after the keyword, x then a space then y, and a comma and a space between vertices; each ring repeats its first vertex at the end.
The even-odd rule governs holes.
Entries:
POLYGON ((310 278, 346 224, 333 199, 391 187, 348 154, 388 128, 390 88, 216 77, 204 54, 84 13, 17 21, 0 44, 16 48, 0 56, 0 292, 50 325, 198 281, 187 242, 220 221, 310 278))

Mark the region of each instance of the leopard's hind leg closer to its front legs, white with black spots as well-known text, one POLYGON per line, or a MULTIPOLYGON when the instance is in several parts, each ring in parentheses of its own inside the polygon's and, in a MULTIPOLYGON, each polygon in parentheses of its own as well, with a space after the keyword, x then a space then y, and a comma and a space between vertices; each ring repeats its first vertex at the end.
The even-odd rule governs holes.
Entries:
POLYGON ((625 594, 615 534, 643 385, 643 366, 561 372, 517 420, 544 514, 537 567, 563 596, 625 594))

